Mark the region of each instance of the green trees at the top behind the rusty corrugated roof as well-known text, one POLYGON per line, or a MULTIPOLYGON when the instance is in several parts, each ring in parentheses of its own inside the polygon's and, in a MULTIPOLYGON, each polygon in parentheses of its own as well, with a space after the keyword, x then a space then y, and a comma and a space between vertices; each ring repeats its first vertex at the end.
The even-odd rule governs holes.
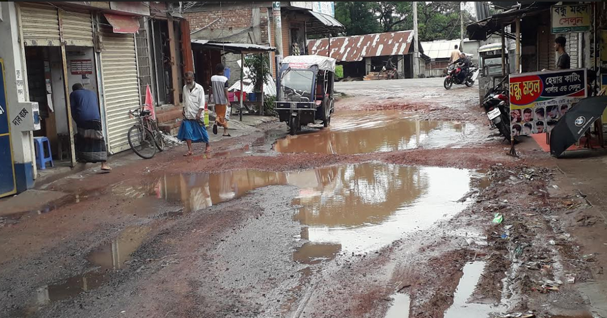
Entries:
MULTIPOLYGON (((453 40, 461 36, 459 2, 418 3, 419 40, 453 40)), ((335 2, 336 18, 346 27, 346 35, 393 32, 413 29, 413 2, 335 2)), ((472 16, 464 12, 464 25, 472 16)))

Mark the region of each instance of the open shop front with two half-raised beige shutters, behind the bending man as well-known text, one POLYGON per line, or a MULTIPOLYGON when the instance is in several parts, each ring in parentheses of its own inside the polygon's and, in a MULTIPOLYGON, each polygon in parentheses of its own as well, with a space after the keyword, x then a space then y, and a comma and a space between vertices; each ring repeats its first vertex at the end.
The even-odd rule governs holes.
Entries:
POLYGON ((34 137, 49 140, 56 165, 73 167, 75 125, 70 88, 81 83, 87 89, 98 89, 92 15, 86 10, 21 2, 18 17, 27 70, 24 79, 29 100, 38 103, 41 117, 41 130, 34 137))

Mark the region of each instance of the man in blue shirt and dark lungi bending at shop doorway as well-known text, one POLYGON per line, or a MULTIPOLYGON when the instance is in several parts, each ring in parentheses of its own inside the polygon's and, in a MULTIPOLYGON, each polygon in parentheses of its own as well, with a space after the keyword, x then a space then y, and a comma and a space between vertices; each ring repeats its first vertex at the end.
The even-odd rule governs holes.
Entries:
POLYGON ((107 146, 101 127, 101 115, 97 94, 84 89, 82 84, 72 86, 70 94, 72 118, 76 122, 76 161, 96 164, 101 162, 101 170, 111 171, 107 165, 107 146))

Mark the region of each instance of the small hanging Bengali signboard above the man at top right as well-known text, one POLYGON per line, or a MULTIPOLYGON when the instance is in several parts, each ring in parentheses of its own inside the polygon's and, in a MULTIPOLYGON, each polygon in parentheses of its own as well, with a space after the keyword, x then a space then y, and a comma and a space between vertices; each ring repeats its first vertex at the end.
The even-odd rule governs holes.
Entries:
POLYGON ((592 7, 590 4, 552 6, 552 34, 590 32, 591 26, 592 7))

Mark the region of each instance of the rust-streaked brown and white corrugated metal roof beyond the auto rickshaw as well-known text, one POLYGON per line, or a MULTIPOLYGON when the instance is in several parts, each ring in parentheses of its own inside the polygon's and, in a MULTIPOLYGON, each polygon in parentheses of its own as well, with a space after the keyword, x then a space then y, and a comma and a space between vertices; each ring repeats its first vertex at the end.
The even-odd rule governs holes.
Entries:
MULTIPOLYGON (((405 55, 413 41, 413 31, 387 32, 331 38, 331 57, 337 61, 356 62, 365 57, 405 55)), ((312 55, 328 56, 328 39, 308 41, 312 55)))

